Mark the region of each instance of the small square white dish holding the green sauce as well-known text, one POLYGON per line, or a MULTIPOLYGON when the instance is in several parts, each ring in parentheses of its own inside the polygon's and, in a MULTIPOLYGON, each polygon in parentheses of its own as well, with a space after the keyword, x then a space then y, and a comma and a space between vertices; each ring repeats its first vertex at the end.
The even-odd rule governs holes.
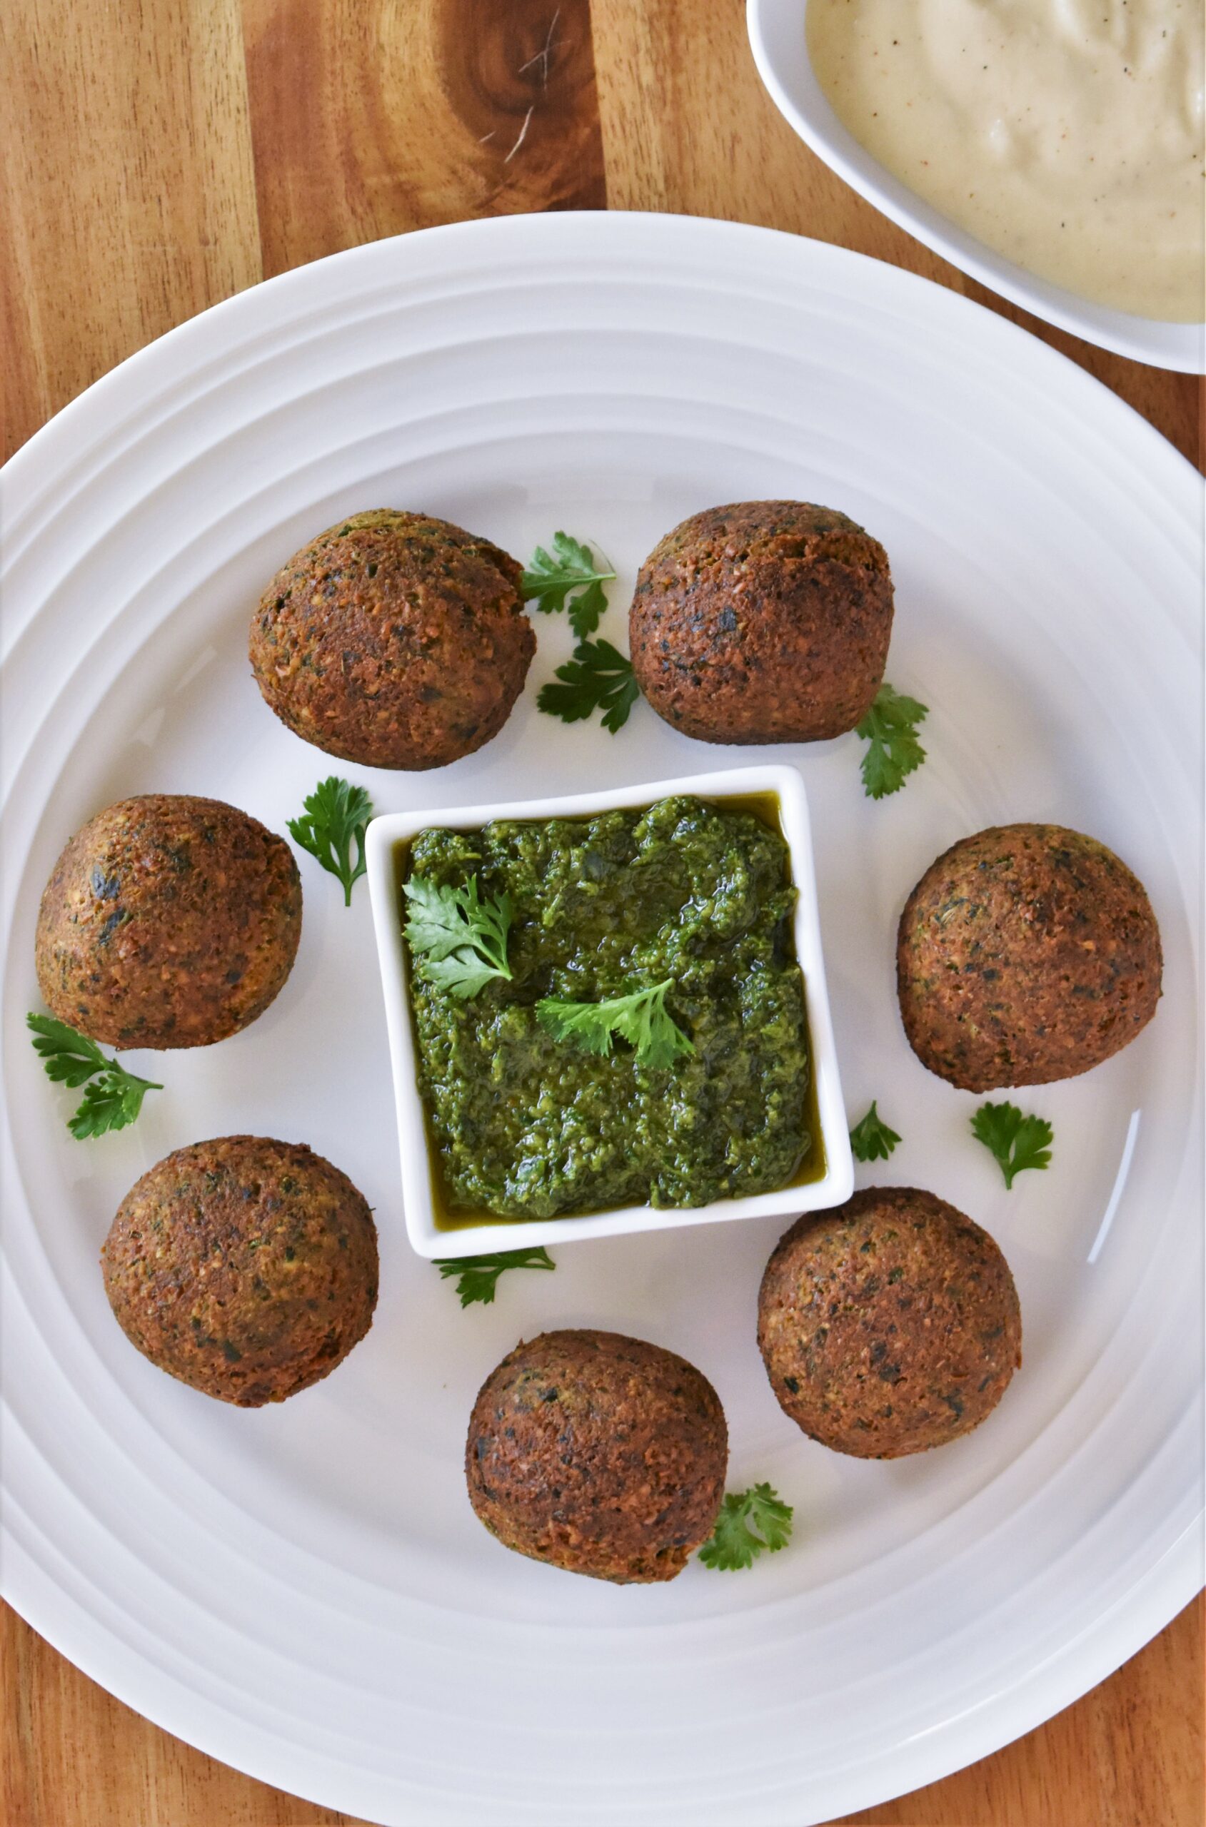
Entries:
POLYGON ((450 806, 444 811, 397 811, 373 818, 365 840, 373 926, 386 992, 386 1023, 393 1060, 393 1091, 398 1111, 402 1149, 402 1209, 406 1231, 422 1257, 481 1255, 528 1244, 563 1244, 583 1237, 619 1237, 625 1231, 665 1231, 685 1224, 720 1224, 725 1219, 766 1219, 839 1206, 853 1191, 853 1160, 837 1072, 830 998, 824 983, 820 924, 817 919, 817 881, 808 822, 804 782, 795 767, 735 767, 725 773, 693 775, 685 780, 654 780, 649 786, 610 787, 568 798, 510 800, 499 806, 450 806), (791 881, 797 890, 795 950, 804 972, 804 998, 811 1043, 811 1072, 817 1083, 824 1175, 806 1186, 784 1186, 755 1199, 718 1199, 709 1206, 660 1209, 621 1206, 614 1211, 559 1219, 490 1219, 459 1222, 453 1230, 437 1226, 428 1158, 428 1129, 418 1096, 418 1060, 409 1010, 409 966, 402 943, 402 888, 398 846, 433 828, 477 831, 495 818, 585 818, 599 811, 636 809, 672 793, 693 793, 704 800, 747 798, 769 793, 778 800, 778 815, 791 855, 791 881))

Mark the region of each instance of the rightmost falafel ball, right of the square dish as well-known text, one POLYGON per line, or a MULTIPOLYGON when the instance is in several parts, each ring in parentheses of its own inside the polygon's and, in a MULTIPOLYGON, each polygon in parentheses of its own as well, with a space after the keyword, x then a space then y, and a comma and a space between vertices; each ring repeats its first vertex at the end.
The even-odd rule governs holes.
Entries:
POLYGON ((1160 998, 1160 928, 1142 882, 1058 824, 952 844, 904 903, 895 961, 910 1047, 963 1091, 1087 1072, 1135 1040, 1160 998))

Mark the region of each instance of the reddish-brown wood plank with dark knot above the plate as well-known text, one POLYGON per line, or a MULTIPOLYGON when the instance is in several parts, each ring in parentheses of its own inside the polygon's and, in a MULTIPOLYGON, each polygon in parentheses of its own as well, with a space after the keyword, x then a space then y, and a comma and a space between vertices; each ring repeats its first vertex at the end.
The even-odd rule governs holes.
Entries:
POLYGON ((243 24, 265 272, 603 208, 587 0, 243 0, 243 24))

